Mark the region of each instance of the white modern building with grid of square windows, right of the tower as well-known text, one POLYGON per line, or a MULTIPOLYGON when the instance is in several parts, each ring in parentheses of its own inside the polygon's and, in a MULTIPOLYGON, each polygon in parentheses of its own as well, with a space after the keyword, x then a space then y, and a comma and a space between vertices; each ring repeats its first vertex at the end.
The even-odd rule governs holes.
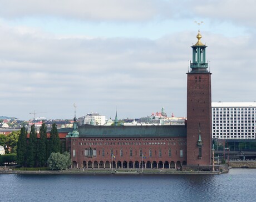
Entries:
POLYGON ((213 102, 213 138, 255 139, 256 102, 213 102))

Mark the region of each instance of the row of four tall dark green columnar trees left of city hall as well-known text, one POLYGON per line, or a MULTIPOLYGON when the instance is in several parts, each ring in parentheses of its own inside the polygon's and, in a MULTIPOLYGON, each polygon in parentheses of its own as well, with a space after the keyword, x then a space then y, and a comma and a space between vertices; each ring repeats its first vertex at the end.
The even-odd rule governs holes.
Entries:
POLYGON ((47 127, 43 123, 40 127, 39 135, 35 124, 31 126, 29 138, 27 138, 27 130, 25 127, 21 128, 17 142, 17 163, 24 167, 43 167, 47 165, 47 160, 51 153, 60 153, 60 137, 56 124, 52 124, 50 138, 47 139, 47 127))

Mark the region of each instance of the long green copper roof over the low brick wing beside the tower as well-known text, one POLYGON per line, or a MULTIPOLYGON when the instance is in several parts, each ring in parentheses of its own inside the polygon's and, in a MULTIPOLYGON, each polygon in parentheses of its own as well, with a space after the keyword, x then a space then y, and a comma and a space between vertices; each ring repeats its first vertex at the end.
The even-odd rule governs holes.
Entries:
POLYGON ((186 137, 185 125, 78 127, 79 137, 186 137))

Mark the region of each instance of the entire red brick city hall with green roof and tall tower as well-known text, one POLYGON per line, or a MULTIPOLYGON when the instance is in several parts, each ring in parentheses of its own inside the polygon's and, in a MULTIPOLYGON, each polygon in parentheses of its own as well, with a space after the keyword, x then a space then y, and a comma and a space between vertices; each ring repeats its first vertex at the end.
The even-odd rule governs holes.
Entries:
POLYGON ((81 125, 66 136, 72 168, 211 170, 211 73, 201 34, 191 46, 185 125, 81 125))

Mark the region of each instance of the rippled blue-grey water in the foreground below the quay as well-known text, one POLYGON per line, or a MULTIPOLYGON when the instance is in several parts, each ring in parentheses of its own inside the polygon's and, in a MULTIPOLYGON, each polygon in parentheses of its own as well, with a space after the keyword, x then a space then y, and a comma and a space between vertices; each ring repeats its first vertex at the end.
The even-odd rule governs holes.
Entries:
POLYGON ((0 175, 0 201, 255 201, 256 169, 222 175, 0 175))

